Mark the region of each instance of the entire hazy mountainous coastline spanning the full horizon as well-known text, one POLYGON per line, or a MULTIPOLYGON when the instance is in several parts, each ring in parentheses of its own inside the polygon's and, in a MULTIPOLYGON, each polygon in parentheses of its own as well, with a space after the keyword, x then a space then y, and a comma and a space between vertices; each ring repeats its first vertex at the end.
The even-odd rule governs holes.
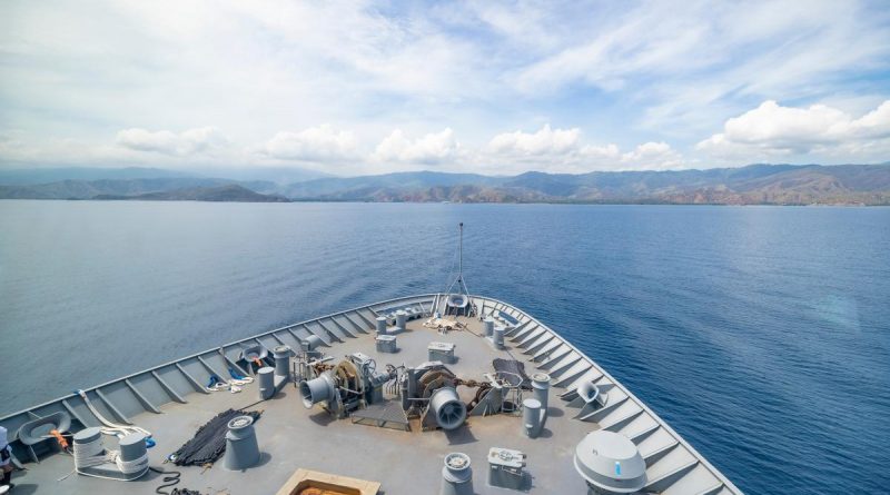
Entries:
MULTIPOLYGON (((97 174, 97 169, 92 170, 91 174, 97 174)), ((150 178, 120 178, 123 174, 121 169, 117 170, 115 178, 83 180, 69 177, 48 184, 28 185, 20 184, 20 175, 16 184, 4 182, 0 174, 0 198, 890 205, 890 164, 749 165, 705 170, 597 171, 580 175, 533 171, 517 176, 416 171, 322 177, 285 184, 176 175, 160 177, 156 171, 150 178)), ((145 171, 141 175, 145 176, 145 171)))

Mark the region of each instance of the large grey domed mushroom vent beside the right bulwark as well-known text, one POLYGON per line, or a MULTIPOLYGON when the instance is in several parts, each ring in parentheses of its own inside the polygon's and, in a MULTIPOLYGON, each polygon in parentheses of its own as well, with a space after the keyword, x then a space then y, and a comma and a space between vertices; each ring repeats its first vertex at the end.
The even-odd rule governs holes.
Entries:
POLYGON ((626 436, 600 429, 575 448, 575 469, 591 495, 635 493, 646 484, 646 464, 626 436))

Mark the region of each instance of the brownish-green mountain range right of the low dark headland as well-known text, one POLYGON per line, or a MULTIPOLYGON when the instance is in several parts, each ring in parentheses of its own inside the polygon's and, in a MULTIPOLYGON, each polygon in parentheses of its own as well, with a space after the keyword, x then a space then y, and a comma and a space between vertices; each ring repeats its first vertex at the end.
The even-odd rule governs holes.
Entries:
POLYGON ((890 205, 890 165, 750 165, 512 177, 425 171, 315 179, 293 184, 283 194, 349 201, 890 205))

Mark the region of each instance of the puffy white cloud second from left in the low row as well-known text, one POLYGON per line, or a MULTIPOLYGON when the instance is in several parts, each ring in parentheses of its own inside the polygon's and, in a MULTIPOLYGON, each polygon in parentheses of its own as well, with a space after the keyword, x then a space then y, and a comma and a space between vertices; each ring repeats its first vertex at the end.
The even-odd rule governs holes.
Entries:
POLYGON ((281 160, 338 161, 355 157, 356 140, 352 132, 325 123, 299 132, 278 132, 263 152, 281 160))

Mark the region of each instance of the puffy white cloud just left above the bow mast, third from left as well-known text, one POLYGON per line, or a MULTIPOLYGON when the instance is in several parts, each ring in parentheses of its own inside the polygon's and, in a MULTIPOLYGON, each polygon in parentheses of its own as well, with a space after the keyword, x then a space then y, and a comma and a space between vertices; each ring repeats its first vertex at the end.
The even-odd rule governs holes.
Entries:
POLYGON ((456 160, 461 154, 461 143, 451 128, 417 139, 411 139, 396 129, 377 145, 372 158, 382 162, 436 165, 456 160))

